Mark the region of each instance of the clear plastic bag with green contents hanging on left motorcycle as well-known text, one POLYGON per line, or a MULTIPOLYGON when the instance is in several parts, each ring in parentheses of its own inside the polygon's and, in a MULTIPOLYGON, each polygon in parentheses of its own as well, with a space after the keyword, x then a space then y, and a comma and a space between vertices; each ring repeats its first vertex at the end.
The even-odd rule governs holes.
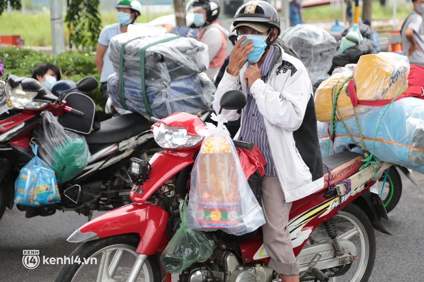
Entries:
POLYGON ((42 126, 34 130, 40 146, 40 158, 51 165, 59 184, 71 180, 83 171, 90 159, 90 150, 82 135, 64 130, 49 111, 42 115, 42 126))

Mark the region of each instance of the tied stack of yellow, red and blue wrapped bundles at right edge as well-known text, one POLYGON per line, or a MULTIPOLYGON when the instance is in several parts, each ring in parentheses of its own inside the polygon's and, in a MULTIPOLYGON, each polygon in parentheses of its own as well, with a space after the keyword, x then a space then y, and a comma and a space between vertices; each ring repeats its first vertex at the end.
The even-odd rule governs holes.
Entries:
POLYGON ((331 77, 328 81, 321 83, 317 89, 315 100, 319 101, 316 106, 320 116, 319 120, 321 120, 318 122, 318 135, 322 156, 345 150, 362 152, 363 149, 371 152, 379 160, 423 173, 424 100, 422 87, 424 87, 424 81, 413 79, 413 76, 417 76, 417 74, 422 77, 423 73, 424 68, 409 66, 408 59, 404 56, 396 53, 379 53, 362 56, 358 62, 356 73, 351 74, 347 79, 345 79, 347 74, 342 76, 341 72, 338 73, 341 76, 340 81, 345 83, 343 91, 334 91, 330 85, 321 87, 330 81, 331 77), (386 64, 382 64, 382 57, 391 59, 386 60, 386 64), (362 58, 367 59, 366 64, 362 64, 362 58), (389 65, 391 65, 391 71, 388 70, 389 65), (367 72, 361 73, 362 70, 367 70, 367 72), (407 73, 408 75, 406 75, 407 73), (408 87, 409 77, 414 83, 408 87), (419 91, 414 91, 414 89, 419 91), (340 92, 339 95, 341 95, 337 107, 334 109, 337 109, 340 106, 339 102, 342 101, 341 110, 343 111, 335 111, 337 113, 336 121, 332 125, 330 122, 332 106, 328 106, 327 111, 321 111, 321 113, 319 109, 323 109, 324 96, 328 103, 332 104, 334 92, 340 92), (349 105, 349 101, 352 99, 347 96, 349 94, 356 95, 356 102, 359 103, 356 107, 352 103, 349 105), (356 115, 354 115, 354 109, 355 111, 359 109, 365 111, 356 111, 356 115), (362 143, 365 146, 363 148, 362 143))

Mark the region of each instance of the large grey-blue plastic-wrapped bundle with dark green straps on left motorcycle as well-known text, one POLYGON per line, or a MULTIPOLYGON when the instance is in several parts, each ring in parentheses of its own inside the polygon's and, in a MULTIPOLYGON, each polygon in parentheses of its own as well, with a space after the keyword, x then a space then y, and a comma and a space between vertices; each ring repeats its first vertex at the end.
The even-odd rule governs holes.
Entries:
POLYGON ((202 73, 209 66, 207 45, 140 26, 109 42, 115 70, 107 80, 112 104, 159 118, 208 109, 216 88, 202 73))

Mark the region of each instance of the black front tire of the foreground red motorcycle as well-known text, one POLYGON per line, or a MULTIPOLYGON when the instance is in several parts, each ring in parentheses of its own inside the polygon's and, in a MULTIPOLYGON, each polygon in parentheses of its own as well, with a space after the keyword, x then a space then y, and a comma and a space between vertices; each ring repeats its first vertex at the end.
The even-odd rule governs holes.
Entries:
MULTIPOLYGON (((97 251, 114 244, 127 244, 128 246, 133 246, 137 248, 140 239, 137 236, 132 235, 119 235, 119 236, 111 236, 103 239, 98 239, 90 242, 85 242, 81 244, 75 251, 72 252, 70 257, 76 257, 77 255, 83 259, 91 257, 97 251)), ((145 281, 145 282, 161 282, 161 270, 159 268, 159 263, 157 257, 150 255, 147 259, 150 264, 150 268, 152 268, 153 272, 153 281, 145 281)), ((72 278, 77 273, 81 265, 79 264, 64 264, 62 268, 60 268, 59 274, 55 279, 56 282, 71 282, 72 278)))

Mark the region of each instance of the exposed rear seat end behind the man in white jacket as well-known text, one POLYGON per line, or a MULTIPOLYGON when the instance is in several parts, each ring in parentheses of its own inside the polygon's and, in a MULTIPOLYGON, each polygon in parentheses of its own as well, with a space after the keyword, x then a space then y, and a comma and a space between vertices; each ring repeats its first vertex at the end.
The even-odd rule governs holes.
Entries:
POLYGON ((332 156, 324 157, 323 163, 325 165, 323 165, 323 188, 328 188, 328 181, 330 181, 330 186, 332 186, 357 173, 360 167, 364 165, 361 161, 363 158, 364 156, 355 152, 339 152, 332 156), (330 173, 328 172, 329 169, 330 173))

